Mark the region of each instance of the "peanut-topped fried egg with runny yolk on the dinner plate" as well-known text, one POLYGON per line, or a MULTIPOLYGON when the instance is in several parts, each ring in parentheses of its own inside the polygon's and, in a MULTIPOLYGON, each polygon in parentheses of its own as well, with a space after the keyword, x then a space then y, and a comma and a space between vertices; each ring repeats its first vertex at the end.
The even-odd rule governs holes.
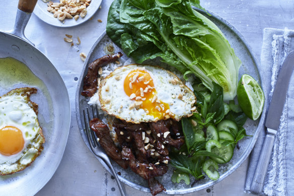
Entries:
POLYGON ((160 67, 130 64, 101 80, 101 108, 132 123, 192 115, 196 97, 172 72, 160 67))

